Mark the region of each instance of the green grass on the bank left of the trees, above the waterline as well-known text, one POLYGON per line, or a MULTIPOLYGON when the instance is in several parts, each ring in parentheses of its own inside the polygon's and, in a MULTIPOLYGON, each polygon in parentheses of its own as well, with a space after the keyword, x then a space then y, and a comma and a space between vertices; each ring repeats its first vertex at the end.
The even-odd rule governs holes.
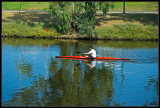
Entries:
MULTIPOLYGON (((28 22, 9 22, 9 23, 2 23, 2 35, 7 36, 35 36, 41 37, 45 36, 48 37, 48 32, 46 28, 43 27, 43 23, 28 23, 28 22)), ((53 29, 49 29, 49 36, 58 36, 60 35, 53 29)))

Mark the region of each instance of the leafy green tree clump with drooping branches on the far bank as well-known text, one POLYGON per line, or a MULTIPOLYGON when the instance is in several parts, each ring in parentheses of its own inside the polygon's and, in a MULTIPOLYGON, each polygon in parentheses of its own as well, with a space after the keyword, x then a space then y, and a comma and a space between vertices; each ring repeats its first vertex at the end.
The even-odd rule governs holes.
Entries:
POLYGON ((113 2, 51 2, 52 27, 63 34, 73 30, 79 36, 94 36, 96 11, 106 15, 113 6, 113 2))

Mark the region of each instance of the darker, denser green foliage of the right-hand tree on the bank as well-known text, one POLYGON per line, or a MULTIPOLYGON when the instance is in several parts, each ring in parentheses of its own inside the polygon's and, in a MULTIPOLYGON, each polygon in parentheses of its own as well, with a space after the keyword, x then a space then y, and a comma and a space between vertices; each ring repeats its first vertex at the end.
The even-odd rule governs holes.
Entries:
POLYGON ((95 29, 95 3, 85 2, 84 6, 82 3, 76 3, 75 7, 80 8, 75 10, 73 18, 73 28, 79 33, 79 35, 92 36, 95 29))

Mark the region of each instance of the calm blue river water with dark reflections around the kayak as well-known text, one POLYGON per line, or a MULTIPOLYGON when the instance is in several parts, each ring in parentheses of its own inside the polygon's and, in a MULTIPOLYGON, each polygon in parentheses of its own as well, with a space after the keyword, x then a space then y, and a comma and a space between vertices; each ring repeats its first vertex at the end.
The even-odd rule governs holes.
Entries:
POLYGON ((158 81, 158 42, 2 39, 2 106, 158 106, 158 81), (90 45, 131 60, 55 58, 90 45))

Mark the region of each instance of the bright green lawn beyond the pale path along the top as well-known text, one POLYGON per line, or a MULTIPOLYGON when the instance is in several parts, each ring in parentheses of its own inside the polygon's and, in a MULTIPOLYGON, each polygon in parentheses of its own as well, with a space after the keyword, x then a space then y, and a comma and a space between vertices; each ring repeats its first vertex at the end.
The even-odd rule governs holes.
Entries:
MULTIPOLYGON (((2 2, 2 10, 19 10, 21 2, 2 2)), ((126 11, 158 11, 158 2, 125 2, 126 11)), ((22 2, 21 10, 48 10, 49 2, 22 2)), ((123 11, 123 2, 115 2, 111 11, 123 11)))

